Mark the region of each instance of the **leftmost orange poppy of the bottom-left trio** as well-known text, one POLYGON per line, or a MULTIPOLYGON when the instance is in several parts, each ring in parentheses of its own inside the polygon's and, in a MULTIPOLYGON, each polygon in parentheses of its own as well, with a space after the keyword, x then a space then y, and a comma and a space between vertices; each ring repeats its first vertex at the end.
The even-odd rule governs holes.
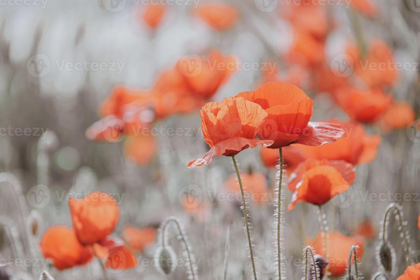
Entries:
POLYGON ((48 228, 42 235, 40 248, 59 270, 87 264, 93 257, 92 248, 80 244, 74 230, 63 225, 48 228))

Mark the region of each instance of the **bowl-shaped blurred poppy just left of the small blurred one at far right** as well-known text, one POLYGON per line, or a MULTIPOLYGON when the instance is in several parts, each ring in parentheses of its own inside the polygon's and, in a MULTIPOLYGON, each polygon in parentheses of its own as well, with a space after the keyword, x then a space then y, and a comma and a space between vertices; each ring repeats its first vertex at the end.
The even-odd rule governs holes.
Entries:
POLYGON ((388 109, 392 101, 392 97, 384 94, 380 88, 343 87, 337 89, 333 96, 350 118, 362 123, 375 122, 376 118, 388 109))

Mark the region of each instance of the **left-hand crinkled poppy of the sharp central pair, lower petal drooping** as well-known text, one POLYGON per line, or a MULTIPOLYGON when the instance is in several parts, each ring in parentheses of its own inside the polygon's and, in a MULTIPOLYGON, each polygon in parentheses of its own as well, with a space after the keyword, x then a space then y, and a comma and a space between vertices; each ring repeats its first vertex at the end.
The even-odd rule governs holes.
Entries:
POLYGON ((207 103, 202 107, 200 116, 204 139, 211 149, 201 159, 189 162, 188 167, 205 165, 215 155, 234 156, 247 148, 273 144, 270 140, 254 139, 267 115, 260 105, 241 97, 207 103))

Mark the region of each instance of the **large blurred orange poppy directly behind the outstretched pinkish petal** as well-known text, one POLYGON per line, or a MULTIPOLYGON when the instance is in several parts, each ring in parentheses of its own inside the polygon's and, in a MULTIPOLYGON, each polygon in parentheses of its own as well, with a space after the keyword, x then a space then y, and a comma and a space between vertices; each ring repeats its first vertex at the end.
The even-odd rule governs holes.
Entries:
POLYGON ((340 124, 344 128, 344 135, 334 143, 328 143, 319 147, 304 145, 291 145, 284 148, 284 152, 300 155, 300 157, 315 160, 345 160, 353 165, 372 162, 378 152, 381 137, 367 135, 361 123, 355 121, 344 122, 331 119, 329 123, 340 124))

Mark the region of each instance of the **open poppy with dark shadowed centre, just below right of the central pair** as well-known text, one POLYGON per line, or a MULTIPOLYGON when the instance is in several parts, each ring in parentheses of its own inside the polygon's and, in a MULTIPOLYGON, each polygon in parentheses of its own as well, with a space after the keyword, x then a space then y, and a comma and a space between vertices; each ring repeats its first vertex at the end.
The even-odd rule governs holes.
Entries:
POLYGON ((297 202, 323 205, 334 196, 347 191, 356 178, 351 163, 344 160, 305 160, 289 177, 289 191, 294 192, 289 210, 297 202))

